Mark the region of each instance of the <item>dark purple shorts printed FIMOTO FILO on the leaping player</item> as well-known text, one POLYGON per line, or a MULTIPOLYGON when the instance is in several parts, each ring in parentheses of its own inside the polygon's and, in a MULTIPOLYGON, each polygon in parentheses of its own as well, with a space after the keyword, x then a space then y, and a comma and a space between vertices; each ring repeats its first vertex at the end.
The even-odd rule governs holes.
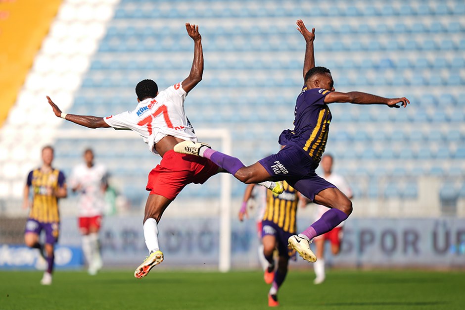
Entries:
POLYGON ((285 146, 277 154, 260 159, 258 162, 273 176, 274 181, 285 180, 311 201, 321 191, 336 188, 317 175, 315 169, 318 164, 298 147, 285 146))

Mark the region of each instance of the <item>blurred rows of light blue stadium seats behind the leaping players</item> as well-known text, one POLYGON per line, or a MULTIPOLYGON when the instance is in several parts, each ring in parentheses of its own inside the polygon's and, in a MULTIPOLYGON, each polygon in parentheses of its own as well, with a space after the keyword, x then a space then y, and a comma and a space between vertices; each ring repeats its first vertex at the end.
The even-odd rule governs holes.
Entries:
MULTIPOLYGON (((310 16, 304 21, 307 26, 312 20, 316 23, 317 65, 331 69, 337 90, 375 92, 384 97, 407 94, 412 102, 406 110, 395 111, 331 106, 334 115, 328 145, 337 146, 335 154, 348 165, 347 171, 359 176, 414 179, 464 176, 460 169, 465 158, 461 126, 465 122, 463 1, 364 0, 315 6, 271 0, 259 1, 263 5, 257 6, 239 0, 240 7, 227 1, 199 2, 207 5, 198 9, 181 0, 162 6, 149 0, 119 2, 70 111, 106 115, 130 109, 134 85, 140 79, 153 76, 162 88, 174 83, 172 76, 186 76, 192 42, 183 25, 175 25, 174 20, 195 17, 204 38, 205 74, 188 96, 189 118, 195 120, 196 128, 229 128, 235 154, 254 162, 256 156, 251 150, 242 150, 241 144, 260 141, 261 148, 275 147, 279 132, 292 126, 292 105, 302 86, 305 43, 295 25, 283 25, 282 21, 310 16), (138 9, 141 4, 146 9, 138 9), (334 17, 335 22, 322 21, 327 17, 334 17), (215 21, 220 19, 225 22, 218 25, 215 21), (124 95, 117 97, 118 92, 124 95), (231 94, 245 95, 237 99, 230 98, 231 94), (284 108, 284 103, 289 108, 284 108), (411 168, 384 167, 399 158, 411 168), (378 168, 360 169, 359 160, 378 168), (441 165, 443 162, 455 168, 441 165)), ((70 156, 69 150, 67 146, 59 152, 70 156)), ((143 156, 150 155, 145 153, 143 156)), ((136 169, 138 173, 142 170, 136 169)), ((131 172, 115 167, 115 173, 125 176, 131 172)), ((354 188, 357 195, 370 198, 415 198, 418 185, 412 184, 381 188, 355 182, 354 188)), ((213 185, 203 188, 198 194, 205 195, 202 197, 217 194, 213 185)), ((234 195, 239 197, 242 190, 235 186, 234 195)))

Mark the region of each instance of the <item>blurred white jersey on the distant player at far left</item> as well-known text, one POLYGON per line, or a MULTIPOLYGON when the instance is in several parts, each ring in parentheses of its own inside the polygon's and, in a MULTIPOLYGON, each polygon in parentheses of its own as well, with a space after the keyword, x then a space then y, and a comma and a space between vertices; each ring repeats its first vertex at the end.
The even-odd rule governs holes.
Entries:
POLYGON ((101 215, 105 210, 105 193, 102 184, 106 182, 107 171, 103 165, 93 165, 91 168, 82 163, 73 169, 70 178, 71 188, 78 185, 80 217, 92 217, 101 215))

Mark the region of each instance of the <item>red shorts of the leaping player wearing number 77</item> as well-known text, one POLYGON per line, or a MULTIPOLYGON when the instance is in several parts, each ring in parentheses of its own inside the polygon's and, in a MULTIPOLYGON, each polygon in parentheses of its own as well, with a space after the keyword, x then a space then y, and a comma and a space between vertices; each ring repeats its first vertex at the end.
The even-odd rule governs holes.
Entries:
POLYGON ((170 150, 148 174, 145 189, 150 194, 174 200, 187 184, 203 184, 217 172, 218 166, 210 159, 170 150))

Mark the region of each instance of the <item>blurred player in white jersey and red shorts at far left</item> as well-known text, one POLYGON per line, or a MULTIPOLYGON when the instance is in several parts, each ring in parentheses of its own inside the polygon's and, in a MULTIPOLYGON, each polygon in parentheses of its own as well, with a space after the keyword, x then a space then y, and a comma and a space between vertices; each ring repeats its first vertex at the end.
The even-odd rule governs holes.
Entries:
POLYGON ((92 149, 84 151, 84 161, 74 167, 70 185, 73 192, 80 194, 78 225, 82 234, 82 249, 86 257, 89 274, 95 275, 102 267, 98 231, 105 209, 107 170, 93 161, 92 149))

